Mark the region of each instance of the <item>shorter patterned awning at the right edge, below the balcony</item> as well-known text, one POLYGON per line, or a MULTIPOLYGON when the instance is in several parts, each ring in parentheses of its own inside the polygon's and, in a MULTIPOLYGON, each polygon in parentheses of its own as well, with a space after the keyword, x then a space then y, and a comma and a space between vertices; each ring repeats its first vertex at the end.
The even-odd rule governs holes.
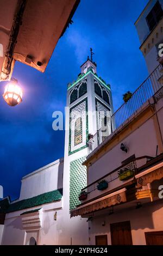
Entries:
POLYGON ((156 164, 155 166, 141 172, 135 176, 137 180, 137 187, 146 186, 148 183, 152 183, 154 180, 160 180, 163 178, 163 162, 156 164))

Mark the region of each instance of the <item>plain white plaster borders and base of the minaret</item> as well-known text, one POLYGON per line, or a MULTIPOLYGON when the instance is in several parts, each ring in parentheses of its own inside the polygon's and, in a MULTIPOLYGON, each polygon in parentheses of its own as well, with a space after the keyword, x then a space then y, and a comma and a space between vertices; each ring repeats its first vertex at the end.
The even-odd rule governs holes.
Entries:
MULTIPOLYGON (((95 77, 96 78, 96 77, 95 77)), ((95 105, 95 87, 94 76, 92 74, 87 75, 87 94, 80 97, 80 99, 74 101, 70 107, 76 105, 77 102, 87 97, 88 103, 88 117, 89 117, 89 133, 95 134, 97 132, 96 123, 96 105, 95 105), (92 115, 95 113, 95 115, 92 115)), ((111 93, 110 93, 111 99, 111 93)), ((100 98, 101 101, 103 101, 100 98)), ((67 106, 69 106, 69 92, 67 93, 67 106)), ((111 99, 112 103, 112 99, 111 99)), ((105 103, 106 104, 106 103, 105 103)), ((111 106, 112 109, 112 106, 111 106)), ((64 156, 64 207, 63 218, 61 222, 59 244, 60 245, 88 245, 88 223, 86 219, 82 219, 80 216, 76 218, 70 218, 70 162, 79 159, 82 156, 88 154, 87 148, 78 151, 75 154, 68 156, 68 142, 69 142, 69 113, 66 115, 66 133, 65 133, 65 156, 64 156)))

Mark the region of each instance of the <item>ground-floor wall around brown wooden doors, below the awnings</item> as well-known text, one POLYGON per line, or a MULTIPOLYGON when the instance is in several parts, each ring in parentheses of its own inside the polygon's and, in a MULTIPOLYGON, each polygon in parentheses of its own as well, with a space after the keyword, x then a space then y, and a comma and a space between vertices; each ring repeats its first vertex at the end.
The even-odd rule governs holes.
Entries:
POLYGON ((108 245, 111 245, 110 224, 130 221, 131 235, 133 239, 133 245, 146 245, 145 232, 149 231, 162 231, 163 222, 163 204, 160 202, 153 202, 143 205, 140 209, 126 209, 120 212, 116 212, 112 215, 102 215, 93 217, 92 221, 89 221, 89 237, 90 245, 95 245, 96 235, 108 235, 108 245), (105 221, 105 226, 102 223, 105 221))

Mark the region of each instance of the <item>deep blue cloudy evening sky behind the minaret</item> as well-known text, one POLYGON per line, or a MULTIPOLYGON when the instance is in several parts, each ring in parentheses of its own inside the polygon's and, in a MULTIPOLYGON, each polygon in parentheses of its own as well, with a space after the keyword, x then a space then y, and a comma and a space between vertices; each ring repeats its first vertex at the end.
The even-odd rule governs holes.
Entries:
MULTIPOLYGON (((59 40, 44 74, 16 63, 23 102, 9 107, 0 98, 0 185, 19 196, 22 176, 64 155, 64 131, 52 130, 52 113, 64 111, 67 83, 76 80, 89 48, 97 74, 111 84, 114 109, 148 76, 134 22, 148 0, 81 0, 73 25, 59 40)), ((1 82, 0 94, 5 83, 1 82)))

